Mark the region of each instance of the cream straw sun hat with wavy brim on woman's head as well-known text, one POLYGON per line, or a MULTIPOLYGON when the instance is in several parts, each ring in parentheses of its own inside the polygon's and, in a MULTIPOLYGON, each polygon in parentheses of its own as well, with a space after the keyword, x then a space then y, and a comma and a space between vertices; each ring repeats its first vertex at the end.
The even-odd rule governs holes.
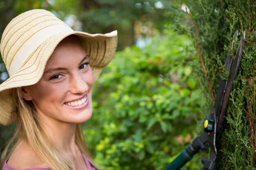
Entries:
POLYGON ((77 35, 81 39, 97 79, 115 54, 117 31, 107 34, 73 31, 53 13, 43 9, 22 13, 7 25, 0 51, 10 77, 0 84, 1 124, 13 121, 11 88, 36 84, 57 44, 68 35, 77 35))

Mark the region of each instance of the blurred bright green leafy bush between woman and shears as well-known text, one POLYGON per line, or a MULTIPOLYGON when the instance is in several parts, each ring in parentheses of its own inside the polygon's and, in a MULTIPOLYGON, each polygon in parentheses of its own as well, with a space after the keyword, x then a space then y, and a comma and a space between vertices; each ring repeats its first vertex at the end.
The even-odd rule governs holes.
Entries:
MULTIPOLYGON (((195 137, 204 100, 191 74, 198 62, 191 46, 166 30, 143 49, 117 52, 103 70, 84 134, 104 170, 163 170, 195 137)), ((202 168, 200 159, 183 170, 202 168)))

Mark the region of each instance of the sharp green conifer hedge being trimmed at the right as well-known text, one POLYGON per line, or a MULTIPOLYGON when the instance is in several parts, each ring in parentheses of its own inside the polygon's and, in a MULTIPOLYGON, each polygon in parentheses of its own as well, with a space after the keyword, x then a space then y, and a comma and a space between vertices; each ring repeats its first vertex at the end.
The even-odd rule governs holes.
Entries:
POLYGON ((245 31, 245 46, 238 75, 222 130, 218 134, 220 151, 215 169, 255 170, 256 2, 193 0, 186 2, 185 7, 179 4, 175 8, 175 14, 178 15, 175 29, 189 35, 200 58, 195 61, 193 73, 204 92, 207 104, 201 112, 205 116, 210 114, 213 107, 226 55, 236 55, 241 33, 245 31), (181 6, 183 11, 180 10, 181 6), (239 31, 238 41, 232 49, 236 30, 239 31))

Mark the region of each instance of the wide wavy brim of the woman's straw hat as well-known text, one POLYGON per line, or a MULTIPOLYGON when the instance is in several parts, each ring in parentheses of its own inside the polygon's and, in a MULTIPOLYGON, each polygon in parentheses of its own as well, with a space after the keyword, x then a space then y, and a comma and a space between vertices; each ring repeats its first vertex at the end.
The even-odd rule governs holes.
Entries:
POLYGON ((107 34, 89 34, 81 31, 65 31, 45 40, 29 56, 20 69, 0 84, 0 124, 8 125, 15 121, 13 113, 12 89, 36 84, 43 75, 47 60, 61 40, 69 35, 77 35, 90 58, 95 80, 115 55, 117 31, 107 34))

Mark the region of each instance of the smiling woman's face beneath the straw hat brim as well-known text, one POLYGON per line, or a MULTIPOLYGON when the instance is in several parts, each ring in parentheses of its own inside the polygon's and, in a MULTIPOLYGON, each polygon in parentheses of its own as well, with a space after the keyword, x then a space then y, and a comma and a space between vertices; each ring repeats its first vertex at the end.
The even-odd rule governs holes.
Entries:
POLYGON ((94 77, 89 57, 75 36, 61 41, 47 61, 43 77, 22 90, 47 121, 81 123, 92 116, 94 77))

